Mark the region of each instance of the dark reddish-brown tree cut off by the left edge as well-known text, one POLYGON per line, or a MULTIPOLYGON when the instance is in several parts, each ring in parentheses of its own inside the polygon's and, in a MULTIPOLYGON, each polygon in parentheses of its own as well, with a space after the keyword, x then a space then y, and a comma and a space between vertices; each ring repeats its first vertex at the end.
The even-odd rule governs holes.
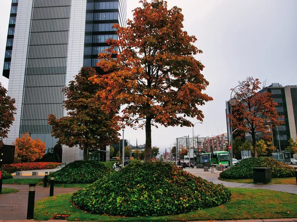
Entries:
MULTIPOLYGON (((16 114, 16 108, 14 107, 15 100, 6 95, 7 90, 2 86, 0 82, 0 138, 6 138, 16 114)), ((0 147, 3 146, 2 140, 0 140, 0 147)))

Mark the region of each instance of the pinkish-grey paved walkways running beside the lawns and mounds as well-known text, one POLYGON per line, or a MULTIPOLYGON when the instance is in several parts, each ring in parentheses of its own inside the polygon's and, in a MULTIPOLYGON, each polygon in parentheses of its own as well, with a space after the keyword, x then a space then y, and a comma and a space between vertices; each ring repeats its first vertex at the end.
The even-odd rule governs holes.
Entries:
MULTIPOLYGON (((13 176, 14 178, 43 178, 45 172, 52 172, 59 169, 51 170, 38 170, 39 176, 32 176, 32 171, 23 171, 22 176, 13 176)), ((218 180, 221 171, 214 170, 213 173, 210 171, 204 172, 203 169, 199 168, 186 168, 186 171, 199 176, 207 181, 213 182, 214 184, 223 184, 227 187, 242 187, 242 188, 260 188, 270 189, 282 192, 289 192, 297 194, 297 185, 264 185, 264 184, 240 184, 230 183, 218 180)), ((34 171, 36 172, 36 171, 34 171)), ((28 191, 29 185, 3 185, 3 188, 15 188, 19 189, 18 193, 10 193, 0 195, 0 222, 27 222, 27 204, 28 204, 28 191)), ((80 188, 54 188, 54 195, 71 193, 80 188)), ((46 198, 49 196, 49 187, 44 188, 43 186, 36 186, 35 201, 46 198)), ((48 222, 57 222, 57 220, 50 220, 48 222)), ((202 222, 202 221, 199 221, 202 222)), ((209 222, 209 221, 203 221, 209 222)), ((294 219, 259 219, 259 220, 235 220, 235 221, 212 221, 212 222, 297 222, 297 218, 294 219)))

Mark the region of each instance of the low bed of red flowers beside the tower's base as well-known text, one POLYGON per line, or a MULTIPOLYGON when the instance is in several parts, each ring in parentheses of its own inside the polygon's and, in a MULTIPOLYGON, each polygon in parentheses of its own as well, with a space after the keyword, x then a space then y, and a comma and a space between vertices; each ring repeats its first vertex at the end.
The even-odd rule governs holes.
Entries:
POLYGON ((44 170, 44 169, 54 169, 60 165, 61 163, 54 163, 54 162, 33 162, 33 163, 3 164, 3 167, 16 167, 18 170, 44 170))

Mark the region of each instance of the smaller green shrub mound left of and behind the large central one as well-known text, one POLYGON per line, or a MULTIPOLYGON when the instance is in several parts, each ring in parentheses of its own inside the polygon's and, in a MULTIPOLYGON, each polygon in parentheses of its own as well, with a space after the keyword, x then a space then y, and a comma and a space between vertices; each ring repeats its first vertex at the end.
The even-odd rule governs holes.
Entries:
POLYGON ((111 169, 97 160, 77 160, 50 173, 50 176, 54 176, 55 184, 91 184, 110 171, 111 169))

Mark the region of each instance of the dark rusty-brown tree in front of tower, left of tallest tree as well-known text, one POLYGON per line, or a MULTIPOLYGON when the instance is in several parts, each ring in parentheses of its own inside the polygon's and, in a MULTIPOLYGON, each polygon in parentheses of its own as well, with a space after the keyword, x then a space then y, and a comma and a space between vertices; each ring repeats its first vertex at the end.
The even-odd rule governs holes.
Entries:
POLYGON ((52 136, 59 139, 58 143, 79 146, 84 150, 84 160, 88 158, 89 149, 117 143, 119 136, 119 127, 113 118, 115 112, 106 113, 101 109, 103 102, 95 96, 100 86, 89 80, 96 74, 94 68, 83 67, 64 89, 68 115, 56 119, 50 114, 48 118, 52 136))

